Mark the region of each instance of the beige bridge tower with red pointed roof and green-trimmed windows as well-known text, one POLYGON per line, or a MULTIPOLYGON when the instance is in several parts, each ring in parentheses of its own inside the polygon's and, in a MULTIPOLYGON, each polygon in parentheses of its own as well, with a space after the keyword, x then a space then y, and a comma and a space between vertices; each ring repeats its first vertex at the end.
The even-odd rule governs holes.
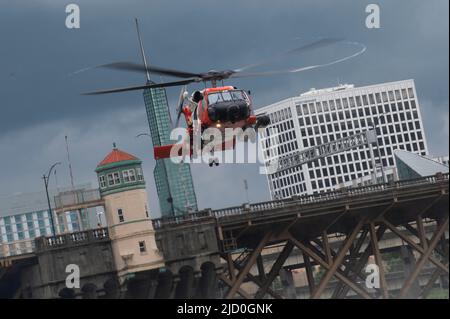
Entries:
POLYGON ((163 266, 155 243, 141 164, 140 159, 114 144, 95 170, 105 201, 115 265, 122 280, 127 275, 163 266))

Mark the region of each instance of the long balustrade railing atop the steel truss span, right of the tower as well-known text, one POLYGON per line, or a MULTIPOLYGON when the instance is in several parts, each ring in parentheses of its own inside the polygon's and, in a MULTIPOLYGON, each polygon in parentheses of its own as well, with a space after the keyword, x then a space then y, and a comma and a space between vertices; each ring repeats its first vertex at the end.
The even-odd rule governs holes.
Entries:
POLYGON ((416 179, 366 185, 359 187, 348 187, 318 194, 293 196, 287 199, 273 200, 255 204, 244 204, 242 206, 234 206, 217 210, 206 209, 203 211, 195 212, 192 214, 186 214, 182 216, 154 219, 152 222, 154 229, 160 229, 163 227, 170 227, 173 225, 178 225, 189 221, 203 220, 206 217, 221 219, 227 216, 236 216, 245 213, 270 211, 292 205, 315 204, 320 202, 340 200, 344 198, 351 198, 373 193, 392 192, 397 189, 404 189, 423 184, 448 183, 448 181, 449 181, 449 173, 445 174, 438 173, 436 175, 416 179))

